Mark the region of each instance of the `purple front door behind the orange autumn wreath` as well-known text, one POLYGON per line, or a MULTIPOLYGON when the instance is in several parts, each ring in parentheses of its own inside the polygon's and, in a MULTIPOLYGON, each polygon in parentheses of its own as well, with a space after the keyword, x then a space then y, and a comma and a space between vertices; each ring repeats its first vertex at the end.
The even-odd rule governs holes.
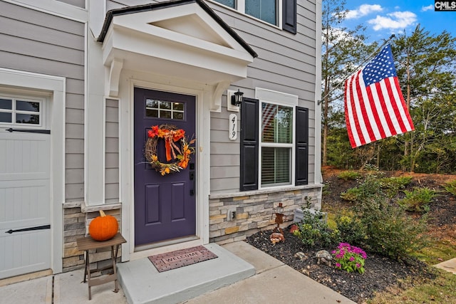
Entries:
MULTIPOLYGON (((135 88, 134 107, 135 246, 195 236, 195 154, 186 169, 164 176, 144 156, 153 125, 175 125, 187 137, 195 135, 195 96, 135 88)), ((156 152, 166 162, 165 140, 157 141, 156 152)))

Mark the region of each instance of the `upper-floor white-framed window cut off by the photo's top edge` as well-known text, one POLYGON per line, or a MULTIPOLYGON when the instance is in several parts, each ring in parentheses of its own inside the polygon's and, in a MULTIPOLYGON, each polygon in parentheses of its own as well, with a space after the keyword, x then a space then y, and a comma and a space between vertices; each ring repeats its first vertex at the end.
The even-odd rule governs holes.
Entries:
POLYGON ((213 0, 239 13, 280 26, 282 0, 213 0))

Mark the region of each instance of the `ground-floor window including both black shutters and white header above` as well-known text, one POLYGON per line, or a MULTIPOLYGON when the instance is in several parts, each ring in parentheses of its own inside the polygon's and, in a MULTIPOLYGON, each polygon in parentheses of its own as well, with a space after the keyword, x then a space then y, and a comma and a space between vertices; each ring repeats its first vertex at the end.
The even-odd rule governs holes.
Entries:
POLYGON ((298 96, 255 88, 241 105, 239 190, 309 182, 309 109, 298 96))

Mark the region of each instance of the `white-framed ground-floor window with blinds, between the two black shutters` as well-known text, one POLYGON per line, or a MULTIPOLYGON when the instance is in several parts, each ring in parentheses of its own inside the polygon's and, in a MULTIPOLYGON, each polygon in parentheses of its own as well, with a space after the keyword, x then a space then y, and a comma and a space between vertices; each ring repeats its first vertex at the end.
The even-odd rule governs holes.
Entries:
POLYGON ((260 187, 292 184, 294 107, 264 101, 260 106, 260 187))

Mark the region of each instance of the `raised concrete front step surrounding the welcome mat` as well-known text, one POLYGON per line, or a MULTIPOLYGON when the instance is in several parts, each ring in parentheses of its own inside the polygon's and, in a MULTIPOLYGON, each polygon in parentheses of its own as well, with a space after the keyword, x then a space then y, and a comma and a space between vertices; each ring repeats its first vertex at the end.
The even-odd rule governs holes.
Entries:
POLYGON ((254 276, 254 266, 234 253, 216 243, 204 247, 218 258, 162 273, 148 258, 118 263, 118 277, 128 303, 180 303, 254 276))

